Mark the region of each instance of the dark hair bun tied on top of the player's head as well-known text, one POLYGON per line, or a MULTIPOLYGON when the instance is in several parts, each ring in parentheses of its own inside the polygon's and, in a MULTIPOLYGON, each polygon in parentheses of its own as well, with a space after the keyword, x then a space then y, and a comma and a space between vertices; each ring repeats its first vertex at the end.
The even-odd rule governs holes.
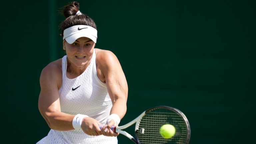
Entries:
POLYGON ((66 5, 63 9, 63 15, 68 18, 72 15, 76 15, 79 11, 79 3, 78 2, 71 2, 70 4, 66 5))

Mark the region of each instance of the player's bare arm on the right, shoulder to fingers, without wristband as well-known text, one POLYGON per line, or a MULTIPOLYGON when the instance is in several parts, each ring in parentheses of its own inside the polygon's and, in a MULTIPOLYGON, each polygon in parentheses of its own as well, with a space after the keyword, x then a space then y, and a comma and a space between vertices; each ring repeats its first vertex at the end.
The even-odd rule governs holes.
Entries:
MULTIPOLYGON (((112 52, 100 50, 98 51, 98 56, 98 60, 101 63, 98 64, 101 75, 99 78, 106 82, 113 104, 110 114, 117 114, 122 119, 126 113, 128 97, 128 86, 124 72, 117 57, 112 52)), ((109 129, 114 123, 111 121, 107 128, 109 129)))

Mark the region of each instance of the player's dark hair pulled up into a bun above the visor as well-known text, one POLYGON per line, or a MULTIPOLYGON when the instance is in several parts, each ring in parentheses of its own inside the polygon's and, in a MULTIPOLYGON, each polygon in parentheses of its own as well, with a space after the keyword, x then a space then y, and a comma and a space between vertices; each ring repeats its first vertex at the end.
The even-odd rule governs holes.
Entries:
POLYGON ((61 30, 61 36, 63 37, 63 31, 69 27, 75 25, 88 25, 96 29, 96 24, 92 18, 82 13, 82 15, 76 15, 79 11, 79 3, 71 2, 63 7, 63 15, 65 20, 60 24, 59 31, 61 30))

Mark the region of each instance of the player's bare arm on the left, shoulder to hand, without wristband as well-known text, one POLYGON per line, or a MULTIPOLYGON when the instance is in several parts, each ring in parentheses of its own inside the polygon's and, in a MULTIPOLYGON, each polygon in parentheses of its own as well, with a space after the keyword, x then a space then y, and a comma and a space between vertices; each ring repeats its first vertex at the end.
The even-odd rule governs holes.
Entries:
MULTIPOLYGON (((55 61, 47 65, 40 76, 41 91, 39 94, 38 108, 51 129, 59 131, 73 130, 72 121, 75 115, 61 112, 59 88, 62 84, 61 66, 55 61)), ((83 131, 88 135, 100 135, 98 125, 93 118, 86 117, 82 122, 83 131)))

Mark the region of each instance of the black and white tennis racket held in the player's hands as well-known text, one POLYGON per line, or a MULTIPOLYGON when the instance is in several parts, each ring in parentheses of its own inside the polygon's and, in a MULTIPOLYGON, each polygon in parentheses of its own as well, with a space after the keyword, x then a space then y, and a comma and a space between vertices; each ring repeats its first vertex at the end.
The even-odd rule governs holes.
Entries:
POLYGON ((188 144, 190 139, 188 119, 180 110, 168 106, 150 108, 123 126, 112 126, 111 130, 125 135, 136 144, 188 144), (122 131, 134 123, 136 123, 135 138, 122 131), (173 137, 165 139, 161 136, 159 130, 164 124, 175 127, 176 133, 173 137))

